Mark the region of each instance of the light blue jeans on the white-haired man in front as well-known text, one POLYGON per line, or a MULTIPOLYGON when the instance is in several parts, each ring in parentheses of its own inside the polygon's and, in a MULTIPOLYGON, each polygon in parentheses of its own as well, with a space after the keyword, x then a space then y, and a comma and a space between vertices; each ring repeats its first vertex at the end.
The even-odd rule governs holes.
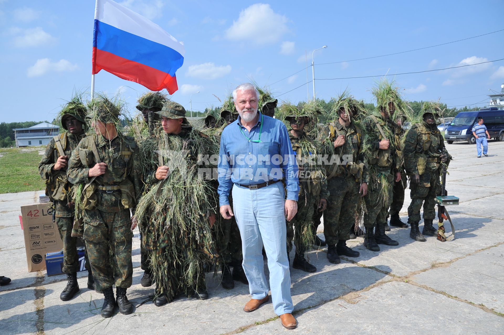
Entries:
POLYGON ((243 270, 253 299, 268 295, 263 245, 268 257, 273 308, 277 315, 292 313, 290 271, 287 258, 285 193, 281 182, 249 190, 233 186, 233 212, 241 235, 243 270))

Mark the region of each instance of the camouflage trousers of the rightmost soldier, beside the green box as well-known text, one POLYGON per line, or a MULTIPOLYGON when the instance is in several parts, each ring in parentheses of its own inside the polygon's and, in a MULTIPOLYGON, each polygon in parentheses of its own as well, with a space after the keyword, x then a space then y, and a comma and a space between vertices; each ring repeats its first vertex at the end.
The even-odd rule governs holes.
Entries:
POLYGON ((439 172, 425 171, 420 176, 420 183, 410 183, 411 203, 408 206, 408 223, 420 221, 420 209, 423 204, 423 218, 433 220, 436 217, 436 195, 440 190, 439 172))

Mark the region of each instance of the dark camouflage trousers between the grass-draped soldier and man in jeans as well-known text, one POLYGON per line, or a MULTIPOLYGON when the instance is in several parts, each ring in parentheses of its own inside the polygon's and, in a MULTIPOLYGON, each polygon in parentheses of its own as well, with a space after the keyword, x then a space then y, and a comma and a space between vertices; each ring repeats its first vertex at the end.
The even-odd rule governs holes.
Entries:
POLYGON ((241 236, 234 216, 229 220, 221 219, 217 241, 219 255, 224 264, 241 266, 243 254, 241 251, 241 236))

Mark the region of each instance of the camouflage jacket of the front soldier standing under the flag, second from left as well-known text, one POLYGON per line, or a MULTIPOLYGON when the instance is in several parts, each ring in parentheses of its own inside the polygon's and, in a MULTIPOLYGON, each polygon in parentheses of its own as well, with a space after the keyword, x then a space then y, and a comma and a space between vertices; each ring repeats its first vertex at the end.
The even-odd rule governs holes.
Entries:
POLYGON ((118 135, 110 141, 101 135, 85 137, 69 160, 69 182, 80 184, 91 180, 88 177, 89 169, 96 164, 92 151, 93 142, 100 162, 107 164, 105 173, 96 177, 90 185, 93 190, 90 191, 91 196, 96 195, 93 200, 96 201, 96 208, 104 212, 118 212, 122 208, 131 208, 134 211, 137 198, 142 194, 142 168, 136 142, 131 137, 118 135), (99 190, 100 187, 107 186, 119 186, 120 189, 110 192, 99 190))

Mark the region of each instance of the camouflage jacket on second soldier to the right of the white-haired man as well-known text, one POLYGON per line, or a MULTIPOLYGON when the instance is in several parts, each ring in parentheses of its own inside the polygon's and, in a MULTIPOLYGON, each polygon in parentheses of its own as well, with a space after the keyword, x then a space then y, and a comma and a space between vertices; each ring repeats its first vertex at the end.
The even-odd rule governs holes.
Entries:
POLYGON ((321 129, 319 140, 335 155, 332 157, 333 159, 329 157, 329 161, 332 163, 326 166, 328 179, 352 175, 351 172, 354 172, 355 167, 359 166, 357 170, 359 170, 358 175, 361 176, 361 182, 369 183, 369 171, 362 150, 363 138, 360 129, 354 123, 350 123, 350 126, 346 128, 336 120, 321 129), (340 134, 345 135, 345 143, 335 148, 334 141, 340 134))

